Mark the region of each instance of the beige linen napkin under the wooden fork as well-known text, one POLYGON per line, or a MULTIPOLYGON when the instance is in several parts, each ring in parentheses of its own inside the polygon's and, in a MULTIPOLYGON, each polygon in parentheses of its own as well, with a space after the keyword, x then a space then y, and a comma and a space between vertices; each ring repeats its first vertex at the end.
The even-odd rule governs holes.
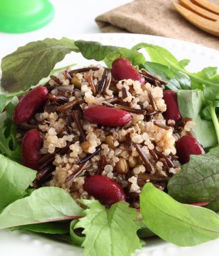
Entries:
MULTIPOLYGON (((219 3, 219 0, 210 0, 219 3)), ((96 17, 105 33, 160 35, 203 44, 219 50, 219 37, 209 35, 184 19, 171 0, 135 0, 96 17)))

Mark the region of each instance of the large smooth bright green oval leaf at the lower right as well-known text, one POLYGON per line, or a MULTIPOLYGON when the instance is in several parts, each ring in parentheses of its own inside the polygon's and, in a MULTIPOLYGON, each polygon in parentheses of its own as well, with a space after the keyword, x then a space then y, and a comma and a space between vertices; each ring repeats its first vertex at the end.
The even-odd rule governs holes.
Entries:
POLYGON ((147 227, 173 244, 195 246, 219 237, 219 217, 215 212, 178 203, 151 183, 143 187, 140 205, 147 227))

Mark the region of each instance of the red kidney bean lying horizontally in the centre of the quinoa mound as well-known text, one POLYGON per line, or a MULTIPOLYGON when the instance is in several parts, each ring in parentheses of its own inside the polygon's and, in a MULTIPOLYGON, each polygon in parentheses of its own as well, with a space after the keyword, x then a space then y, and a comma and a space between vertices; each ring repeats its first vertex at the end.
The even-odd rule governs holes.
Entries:
POLYGON ((102 126, 125 126, 126 123, 132 120, 129 112, 105 107, 104 105, 91 105, 85 108, 83 116, 87 121, 102 126))

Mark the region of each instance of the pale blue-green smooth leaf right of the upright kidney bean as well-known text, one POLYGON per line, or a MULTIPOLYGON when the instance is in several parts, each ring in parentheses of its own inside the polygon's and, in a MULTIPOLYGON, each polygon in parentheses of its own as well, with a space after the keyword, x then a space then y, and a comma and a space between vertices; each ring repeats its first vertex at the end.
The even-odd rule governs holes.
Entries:
POLYGON ((200 112, 204 107, 204 95, 200 90, 181 90, 177 92, 179 112, 182 117, 191 117, 195 122, 193 133, 204 148, 218 144, 216 130, 212 121, 201 119, 200 112))

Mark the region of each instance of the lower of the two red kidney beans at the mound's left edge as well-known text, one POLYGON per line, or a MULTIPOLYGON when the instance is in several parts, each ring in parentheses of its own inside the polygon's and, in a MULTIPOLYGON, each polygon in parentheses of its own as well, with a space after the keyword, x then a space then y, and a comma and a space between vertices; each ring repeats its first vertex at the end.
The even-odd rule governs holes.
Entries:
POLYGON ((38 170, 38 160, 42 156, 40 149, 43 146, 42 134, 38 130, 28 130, 22 140, 21 162, 24 166, 38 170))

